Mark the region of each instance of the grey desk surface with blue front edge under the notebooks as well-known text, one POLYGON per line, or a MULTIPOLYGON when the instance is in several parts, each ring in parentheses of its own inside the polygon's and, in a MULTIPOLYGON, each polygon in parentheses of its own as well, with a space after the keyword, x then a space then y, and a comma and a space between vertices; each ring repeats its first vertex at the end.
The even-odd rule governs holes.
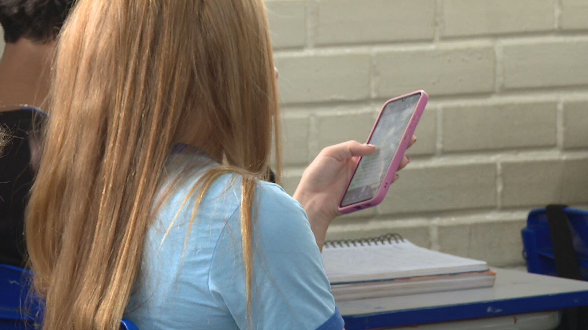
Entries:
POLYGON ((338 303, 346 329, 456 321, 588 305, 588 282, 496 271, 492 288, 338 303))

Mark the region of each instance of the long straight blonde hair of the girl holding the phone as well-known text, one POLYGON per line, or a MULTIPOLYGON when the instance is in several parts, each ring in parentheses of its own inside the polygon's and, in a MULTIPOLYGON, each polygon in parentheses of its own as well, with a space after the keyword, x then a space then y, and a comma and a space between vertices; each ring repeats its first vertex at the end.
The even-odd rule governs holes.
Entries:
POLYGON ((262 0, 78 0, 54 64, 44 153, 26 212, 42 328, 118 329, 165 161, 176 142, 224 159, 199 180, 243 176, 252 285, 252 201, 278 106, 262 0))

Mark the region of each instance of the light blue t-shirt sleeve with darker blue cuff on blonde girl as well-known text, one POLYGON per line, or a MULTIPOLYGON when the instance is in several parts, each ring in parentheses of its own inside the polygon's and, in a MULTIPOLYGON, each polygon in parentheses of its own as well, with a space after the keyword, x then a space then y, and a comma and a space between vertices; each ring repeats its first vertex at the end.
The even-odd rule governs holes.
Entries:
POLYGON ((341 330, 343 319, 305 211, 275 184, 259 183, 256 197, 252 318, 246 318, 239 210, 226 223, 212 257, 214 301, 240 329, 341 330))

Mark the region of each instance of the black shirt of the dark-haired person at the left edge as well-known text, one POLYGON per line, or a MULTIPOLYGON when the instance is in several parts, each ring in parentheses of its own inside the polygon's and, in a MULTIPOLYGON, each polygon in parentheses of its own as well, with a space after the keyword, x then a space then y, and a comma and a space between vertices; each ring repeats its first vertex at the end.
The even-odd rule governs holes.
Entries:
POLYGON ((9 134, 0 153, 0 263, 18 267, 26 261, 24 211, 34 174, 29 133, 36 117, 28 109, 0 112, 9 134))

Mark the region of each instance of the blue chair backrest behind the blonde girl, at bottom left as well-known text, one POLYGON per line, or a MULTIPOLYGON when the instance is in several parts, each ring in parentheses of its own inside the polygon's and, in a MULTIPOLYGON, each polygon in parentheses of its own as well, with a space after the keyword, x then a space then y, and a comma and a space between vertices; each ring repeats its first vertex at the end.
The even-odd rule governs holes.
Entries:
MULTIPOLYGON (((0 264, 0 330, 34 329, 35 316, 41 309, 36 299, 29 299, 31 272, 0 264)), ((123 319, 121 330, 139 330, 133 322, 123 319)))

